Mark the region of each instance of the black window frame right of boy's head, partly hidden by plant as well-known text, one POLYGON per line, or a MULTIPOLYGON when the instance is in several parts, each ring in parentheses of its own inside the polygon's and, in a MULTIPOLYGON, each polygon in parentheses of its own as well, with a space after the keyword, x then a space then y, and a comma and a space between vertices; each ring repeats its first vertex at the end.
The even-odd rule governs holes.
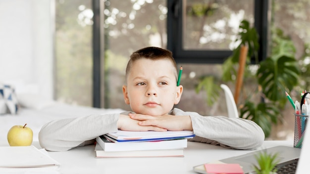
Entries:
MULTIPOLYGON (((231 50, 184 50, 182 49, 182 0, 167 0, 167 49, 172 51, 177 63, 223 63, 231 50)), ((255 0, 255 28, 259 35, 258 61, 267 55, 268 0, 255 0)), ((255 63, 254 57, 252 63, 255 63)))

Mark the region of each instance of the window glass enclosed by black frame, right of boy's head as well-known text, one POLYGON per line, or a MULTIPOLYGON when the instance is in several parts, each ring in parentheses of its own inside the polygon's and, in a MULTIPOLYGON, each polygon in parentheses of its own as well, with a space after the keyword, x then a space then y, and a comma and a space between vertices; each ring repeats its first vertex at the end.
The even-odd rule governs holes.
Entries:
POLYGON ((184 50, 232 49, 240 22, 254 24, 254 0, 183 0, 182 11, 184 50))

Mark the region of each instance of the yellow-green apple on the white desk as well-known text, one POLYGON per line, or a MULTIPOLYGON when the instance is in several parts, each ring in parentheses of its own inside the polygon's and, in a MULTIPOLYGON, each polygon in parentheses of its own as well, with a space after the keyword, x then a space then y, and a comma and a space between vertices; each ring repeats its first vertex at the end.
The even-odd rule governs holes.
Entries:
POLYGON ((10 146, 30 146, 32 144, 33 132, 25 126, 13 126, 7 132, 7 141, 10 146))

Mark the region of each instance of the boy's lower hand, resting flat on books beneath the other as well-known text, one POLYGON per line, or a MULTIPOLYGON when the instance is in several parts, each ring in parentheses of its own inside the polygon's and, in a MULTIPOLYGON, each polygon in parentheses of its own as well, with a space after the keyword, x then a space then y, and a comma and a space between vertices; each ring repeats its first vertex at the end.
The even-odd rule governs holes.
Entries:
POLYGON ((167 131, 156 126, 141 126, 138 120, 131 119, 128 115, 119 115, 117 128, 122 131, 167 131))

